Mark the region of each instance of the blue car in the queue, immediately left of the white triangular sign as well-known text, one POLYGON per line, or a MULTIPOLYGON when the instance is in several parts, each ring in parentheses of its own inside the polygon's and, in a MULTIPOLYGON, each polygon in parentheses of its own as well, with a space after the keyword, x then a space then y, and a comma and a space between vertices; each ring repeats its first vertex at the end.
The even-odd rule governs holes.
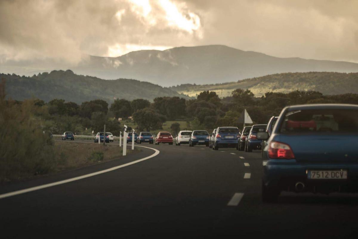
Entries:
POLYGON ((237 127, 218 127, 212 145, 213 150, 219 148, 238 148, 240 131, 237 127))

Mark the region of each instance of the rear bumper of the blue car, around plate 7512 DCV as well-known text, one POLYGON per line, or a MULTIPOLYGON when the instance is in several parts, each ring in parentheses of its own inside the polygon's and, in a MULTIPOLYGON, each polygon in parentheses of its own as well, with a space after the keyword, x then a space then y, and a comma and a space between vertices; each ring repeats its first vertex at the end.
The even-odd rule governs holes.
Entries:
POLYGON ((308 192, 358 192, 358 164, 303 164, 296 160, 267 160, 263 166, 263 183, 268 188, 296 191, 295 184, 302 182, 308 192), (348 171, 347 179, 308 179, 306 170, 348 171))

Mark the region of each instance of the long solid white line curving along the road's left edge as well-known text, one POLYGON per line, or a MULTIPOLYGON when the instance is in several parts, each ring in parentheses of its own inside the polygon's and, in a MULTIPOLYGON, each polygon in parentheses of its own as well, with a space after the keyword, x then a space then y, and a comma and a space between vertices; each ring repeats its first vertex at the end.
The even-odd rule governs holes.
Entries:
MULTIPOLYGON (((145 146, 136 146, 136 147, 150 148, 150 147, 145 147, 145 146)), ((142 162, 142 161, 147 160, 149 158, 153 158, 153 157, 157 156, 159 154, 159 152, 160 152, 159 150, 156 150, 155 148, 150 148, 150 149, 155 151, 152 155, 150 155, 148 157, 145 157, 145 158, 141 158, 139 160, 135 160, 133 162, 129 162, 127 164, 122 164, 122 165, 119 165, 119 166, 116 166, 116 167, 111 167, 109 169, 93 172, 91 174, 85 174, 85 175, 78 176, 78 177, 72 177, 71 179, 65 179, 65 180, 61 180, 61 181, 57 181, 57 182, 51 182, 49 184, 43 184, 43 185, 40 185, 40 186, 29 187, 27 189, 21 189, 21 190, 18 190, 18 191, 13 191, 13 192, 5 193, 5 194, 0 194, 0 199, 5 198, 5 197, 11 197, 11 196, 23 194, 23 193, 26 193, 26 192, 32 192, 32 191, 44 189, 44 188, 47 188, 47 187, 60 185, 60 184, 66 184, 67 182, 73 182, 73 181, 76 181, 76 180, 85 179, 86 177, 92 177, 92 176, 96 176, 96 175, 99 175, 99 174, 104 174, 106 172, 117 170, 117 169, 120 169, 122 167, 126 167, 126 166, 129 166, 129 165, 132 165, 132 164, 142 162)))

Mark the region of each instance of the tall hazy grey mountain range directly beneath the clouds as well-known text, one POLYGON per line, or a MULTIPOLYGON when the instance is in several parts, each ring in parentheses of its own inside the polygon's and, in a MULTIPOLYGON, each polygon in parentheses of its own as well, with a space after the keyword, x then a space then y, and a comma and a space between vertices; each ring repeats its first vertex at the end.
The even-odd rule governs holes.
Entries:
POLYGON ((72 69, 77 74, 102 79, 129 78, 161 86, 215 84, 287 72, 358 72, 358 64, 330 60, 279 58, 224 45, 140 50, 120 57, 84 57, 78 65, 45 59, 8 61, 0 72, 32 75, 52 69, 72 69))

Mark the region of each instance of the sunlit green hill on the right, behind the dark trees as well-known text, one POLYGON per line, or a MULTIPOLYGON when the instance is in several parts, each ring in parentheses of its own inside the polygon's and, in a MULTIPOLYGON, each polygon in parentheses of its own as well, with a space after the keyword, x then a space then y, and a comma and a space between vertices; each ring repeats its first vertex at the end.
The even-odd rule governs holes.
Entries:
POLYGON ((215 91, 220 97, 231 96, 234 89, 250 89, 256 97, 266 92, 288 93, 295 90, 319 91, 323 94, 358 93, 358 73, 305 72, 281 73, 222 84, 182 84, 169 87, 178 93, 196 96, 202 91, 215 91))

